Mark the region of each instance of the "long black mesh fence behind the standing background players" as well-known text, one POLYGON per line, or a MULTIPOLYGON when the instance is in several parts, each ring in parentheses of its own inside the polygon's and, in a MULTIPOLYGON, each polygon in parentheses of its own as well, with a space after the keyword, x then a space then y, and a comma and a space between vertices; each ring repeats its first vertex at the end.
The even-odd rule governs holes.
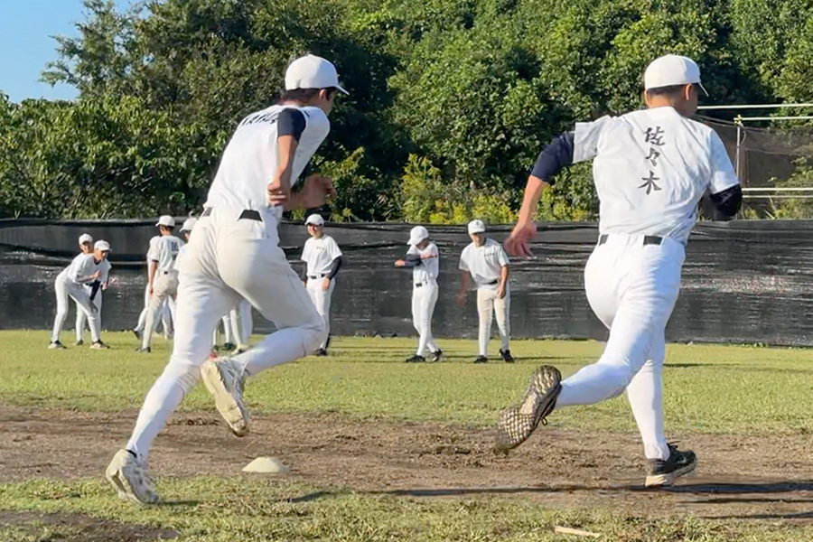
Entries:
MULTIPOLYGON (((117 285, 105 293, 103 328, 132 328, 144 304, 144 259, 148 240, 155 234, 153 224, 0 220, 0 328, 51 327, 54 278, 76 254, 77 238, 83 232, 107 239, 113 248, 112 276, 117 277, 117 285)), ((410 272, 393 266, 406 251, 409 228, 406 224, 327 227, 345 254, 332 301, 334 333, 414 333, 410 272)), ((441 337, 475 337, 473 292, 464 309, 454 303, 460 287, 458 257, 469 242, 465 229, 430 227, 430 232, 442 257, 433 330, 441 337)), ((492 233, 502 240, 508 228, 497 227, 492 233)), ((698 224, 687 248, 683 291, 668 325, 668 340, 813 344, 811 236, 813 221, 808 220, 698 224)), ((301 225, 280 227, 281 245, 291 260, 299 257, 306 237, 301 225)), ((536 257, 512 262, 514 337, 606 337, 584 295, 584 263, 596 237, 592 223, 540 225, 536 257)), ((293 265, 297 270, 301 266, 293 265)), ((255 316, 255 332, 273 329, 255 316)), ((43 341, 47 340, 43 332, 43 341)))

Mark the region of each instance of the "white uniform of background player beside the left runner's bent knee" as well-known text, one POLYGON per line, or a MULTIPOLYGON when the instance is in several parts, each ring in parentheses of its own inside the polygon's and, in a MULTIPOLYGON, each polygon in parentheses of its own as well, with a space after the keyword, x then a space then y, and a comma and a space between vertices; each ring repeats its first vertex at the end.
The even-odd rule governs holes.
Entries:
POLYGON ((319 348, 327 348, 328 337, 331 334, 331 296, 336 285, 335 276, 332 277, 331 285, 327 291, 322 289, 325 278, 331 276, 333 260, 341 257, 341 249, 336 241, 329 235, 322 235, 321 238, 309 238, 305 241, 300 259, 305 262, 307 269, 308 295, 316 307, 316 312, 324 320, 324 335, 319 348))

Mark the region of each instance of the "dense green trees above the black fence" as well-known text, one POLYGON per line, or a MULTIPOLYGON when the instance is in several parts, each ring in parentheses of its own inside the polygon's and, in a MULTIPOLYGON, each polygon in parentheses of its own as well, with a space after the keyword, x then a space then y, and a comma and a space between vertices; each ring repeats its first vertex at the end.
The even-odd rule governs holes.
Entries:
MULTIPOLYGON (((72 102, 0 94, 0 216, 135 217, 201 204, 238 120, 306 51, 350 97, 314 166, 336 220, 511 220, 541 145, 640 107, 654 57, 700 63, 718 103, 811 101, 810 0, 85 0, 43 79, 72 102)), ((809 173, 806 173, 809 174, 809 173)), ((593 216, 588 167, 540 215, 593 216)))

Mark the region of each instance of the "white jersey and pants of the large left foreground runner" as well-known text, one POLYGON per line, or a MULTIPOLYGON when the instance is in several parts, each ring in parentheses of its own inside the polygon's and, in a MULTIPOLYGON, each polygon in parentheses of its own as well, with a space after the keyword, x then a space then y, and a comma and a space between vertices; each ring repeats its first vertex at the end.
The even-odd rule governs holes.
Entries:
POLYGON ((266 200, 268 183, 276 177, 277 128, 294 117, 304 129, 294 154, 293 183, 330 131, 318 107, 276 105, 252 113, 223 152, 181 262, 173 355, 147 394, 127 444, 145 464, 155 435, 201 377, 217 322, 241 299, 277 330, 231 359, 243 375, 301 358, 322 340, 322 317, 278 246, 283 210, 266 200))

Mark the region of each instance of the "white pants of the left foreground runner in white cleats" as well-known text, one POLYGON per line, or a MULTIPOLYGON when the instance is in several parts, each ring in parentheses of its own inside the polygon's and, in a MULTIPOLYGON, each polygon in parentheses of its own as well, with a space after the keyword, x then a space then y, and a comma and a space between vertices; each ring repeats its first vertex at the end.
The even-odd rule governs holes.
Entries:
POLYGON ((155 381, 127 449, 145 462, 155 435, 201 378, 211 334, 241 298, 274 322, 276 332, 232 360, 245 376, 302 358, 319 344, 324 323, 278 246, 273 210, 262 221, 240 209, 214 209, 195 226, 181 262, 173 355, 155 381))

